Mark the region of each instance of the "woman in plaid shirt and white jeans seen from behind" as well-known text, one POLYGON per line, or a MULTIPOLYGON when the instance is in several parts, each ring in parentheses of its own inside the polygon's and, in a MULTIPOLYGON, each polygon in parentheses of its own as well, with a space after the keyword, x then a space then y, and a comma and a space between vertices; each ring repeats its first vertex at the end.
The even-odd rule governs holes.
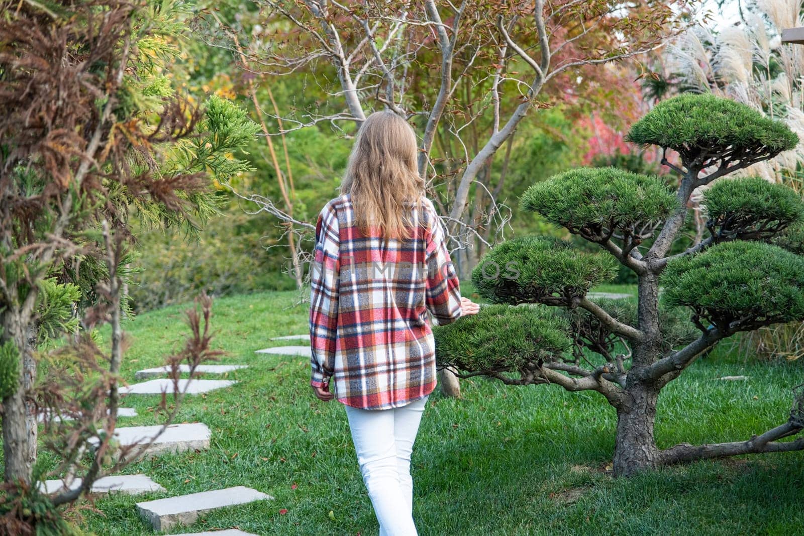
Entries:
POLYGON ((427 313, 443 325, 478 312, 461 297, 416 154, 404 119, 367 117, 341 195, 318 215, 311 271, 310 385, 346 407, 380 536, 416 535, 410 456, 436 387, 427 313))

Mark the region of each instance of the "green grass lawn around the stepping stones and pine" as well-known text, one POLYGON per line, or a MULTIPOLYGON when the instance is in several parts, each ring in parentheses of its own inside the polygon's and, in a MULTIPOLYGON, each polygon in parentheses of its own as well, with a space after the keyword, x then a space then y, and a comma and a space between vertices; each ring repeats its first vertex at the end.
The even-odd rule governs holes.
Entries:
MULTIPOLYGON (((211 448, 129 466, 128 473, 146 473, 168 492, 99 498, 96 513, 82 512, 82 526, 104 536, 154 534, 137 517, 135 502, 246 485, 276 500, 211 513, 170 534, 230 527, 256 534, 377 533, 343 406, 314 399, 306 358, 254 354, 287 343, 270 337, 306 332, 299 297, 259 293, 215 301, 215 346, 228 352, 221 362, 250 368, 229 375, 239 382, 233 387, 188 397, 180 411, 177 422, 207 423, 211 448)), ((135 370, 158 366, 180 344, 183 309, 142 314, 125 325, 132 346, 123 371, 130 382, 135 370)), ((802 372, 799 362, 699 360, 659 401, 660 446, 742 440, 781 423, 802 372), (725 374, 751 378, 715 379, 725 374)), ((804 534, 802 452, 615 481, 605 470, 615 415, 597 394, 483 378, 462 386, 463 399, 430 397, 416 441, 420 534, 804 534)), ((122 424, 154 423, 156 404, 156 397, 129 397, 124 405, 140 416, 122 424)))

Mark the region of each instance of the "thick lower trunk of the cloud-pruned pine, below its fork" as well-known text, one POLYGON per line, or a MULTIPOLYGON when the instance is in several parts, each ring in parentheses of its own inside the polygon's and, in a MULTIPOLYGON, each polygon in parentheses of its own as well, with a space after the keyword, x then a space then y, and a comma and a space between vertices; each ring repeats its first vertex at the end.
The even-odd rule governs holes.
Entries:
POLYGON ((614 444, 614 476, 630 477, 655 468, 659 451, 654 442, 658 390, 635 385, 617 410, 617 440, 614 444))

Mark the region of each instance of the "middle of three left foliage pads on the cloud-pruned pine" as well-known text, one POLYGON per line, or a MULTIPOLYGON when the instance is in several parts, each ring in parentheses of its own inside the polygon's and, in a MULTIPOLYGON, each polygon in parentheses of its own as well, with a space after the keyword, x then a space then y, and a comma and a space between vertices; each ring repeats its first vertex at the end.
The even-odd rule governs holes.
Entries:
POLYGON ((583 297, 617 275, 615 261, 581 252, 564 240, 523 236, 500 243, 472 271, 478 293, 492 303, 553 303, 583 297))

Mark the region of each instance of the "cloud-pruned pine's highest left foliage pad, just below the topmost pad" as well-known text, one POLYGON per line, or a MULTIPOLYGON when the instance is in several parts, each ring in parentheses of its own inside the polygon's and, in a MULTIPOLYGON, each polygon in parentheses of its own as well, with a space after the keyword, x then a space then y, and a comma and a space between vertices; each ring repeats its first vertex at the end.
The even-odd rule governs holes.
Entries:
POLYGON ((602 167, 553 175, 528 188, 520 205, 572 233, 602 239, 615 229, 628 233, 661 222, 677 202, 657 177, 602 167))

